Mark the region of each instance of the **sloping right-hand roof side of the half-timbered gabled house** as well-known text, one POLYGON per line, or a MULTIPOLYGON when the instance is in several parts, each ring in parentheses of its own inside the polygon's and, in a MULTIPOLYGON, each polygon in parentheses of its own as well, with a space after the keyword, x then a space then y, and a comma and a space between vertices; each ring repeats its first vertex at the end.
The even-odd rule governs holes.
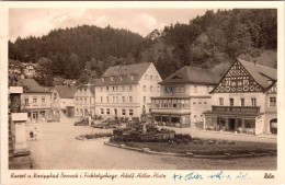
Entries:
POLYGON ((253 62, 249 62, 242 59, 238 59, 241 65, 247 69, 247 71, 251 74, 251 77, 265 90, 267 89, 272 82, 277 80, 277 69, 255 65, 253 62))

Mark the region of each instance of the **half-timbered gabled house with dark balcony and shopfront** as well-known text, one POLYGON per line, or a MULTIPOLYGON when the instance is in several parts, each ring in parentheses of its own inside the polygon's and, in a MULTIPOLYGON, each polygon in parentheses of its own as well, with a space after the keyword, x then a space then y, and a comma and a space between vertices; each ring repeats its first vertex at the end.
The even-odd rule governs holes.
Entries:
POLYGON ((212 93, 204 129, 277 132, 277 70, 237 59, 212 93))

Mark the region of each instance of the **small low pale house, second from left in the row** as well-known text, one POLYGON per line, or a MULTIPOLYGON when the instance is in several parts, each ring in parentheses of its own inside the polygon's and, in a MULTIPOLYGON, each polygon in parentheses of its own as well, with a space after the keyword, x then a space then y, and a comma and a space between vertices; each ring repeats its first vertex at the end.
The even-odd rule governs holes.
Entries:
POLYGON ((52 109, 68 117, 75 116, 75 94, 77 88, 71 85, 56 85, 52 91, 52 109))

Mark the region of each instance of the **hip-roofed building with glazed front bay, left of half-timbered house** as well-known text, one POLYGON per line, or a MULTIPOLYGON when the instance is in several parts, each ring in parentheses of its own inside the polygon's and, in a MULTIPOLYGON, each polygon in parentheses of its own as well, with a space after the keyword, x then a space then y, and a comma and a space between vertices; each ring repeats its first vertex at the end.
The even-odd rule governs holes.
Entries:
POLYGON ((203 112, 210 109, 209 92, 218 77, 209 70, 185 66, 160 82, 160 96, 152 97, 152 122, 156 124, 195 127, 203 122, 203 112))

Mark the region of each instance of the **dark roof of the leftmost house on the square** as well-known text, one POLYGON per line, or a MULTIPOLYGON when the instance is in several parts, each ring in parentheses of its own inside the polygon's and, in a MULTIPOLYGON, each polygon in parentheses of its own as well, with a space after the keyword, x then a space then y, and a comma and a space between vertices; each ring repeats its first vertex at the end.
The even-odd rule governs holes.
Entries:
POLYGON ((18 85, 24 86, 24 93, 50 93, 49 88, 41 86, 34 79, 21 79, 18 85))

